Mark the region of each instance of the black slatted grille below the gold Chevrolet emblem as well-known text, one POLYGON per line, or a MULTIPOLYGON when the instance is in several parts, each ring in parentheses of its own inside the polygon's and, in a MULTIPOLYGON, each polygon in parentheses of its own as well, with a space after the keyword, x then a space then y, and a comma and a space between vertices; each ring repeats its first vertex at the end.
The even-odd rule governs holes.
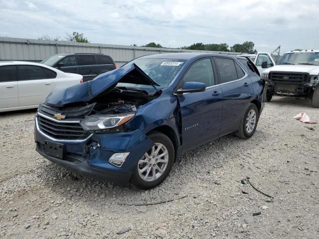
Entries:
POLYGON ((89 133, 84 131, 80 123, 56 122, 51 119, 37 116, 39 129, 48 136, 60 140, 86 139, 89 133))

